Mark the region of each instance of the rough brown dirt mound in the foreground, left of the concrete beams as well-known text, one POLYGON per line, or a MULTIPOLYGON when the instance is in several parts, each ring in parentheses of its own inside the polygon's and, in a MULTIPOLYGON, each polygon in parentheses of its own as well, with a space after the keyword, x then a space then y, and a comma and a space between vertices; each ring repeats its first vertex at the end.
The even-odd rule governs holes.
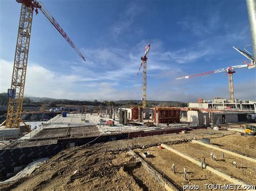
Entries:
MULTIPOLYGON (((134 162, 126 152, 95 152, 85 149, 67 156, 10 187, 14 190, 146 190, 160 185, 142 167, 124 171, 134 162), (76 170, 82 177, 71 180, 76 170), (142 176, 143 174, 143 176, 142 176)), ((6 189, 9 189, 6 187, 6 189)))

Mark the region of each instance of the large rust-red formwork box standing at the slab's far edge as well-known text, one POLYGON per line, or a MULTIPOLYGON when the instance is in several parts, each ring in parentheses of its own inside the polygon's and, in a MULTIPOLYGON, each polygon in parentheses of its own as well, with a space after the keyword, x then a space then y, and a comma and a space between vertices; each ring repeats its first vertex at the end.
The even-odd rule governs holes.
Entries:
POLYGON ((156 107, 154 108, 154 123, 179 123, 180 108, 156 107))

